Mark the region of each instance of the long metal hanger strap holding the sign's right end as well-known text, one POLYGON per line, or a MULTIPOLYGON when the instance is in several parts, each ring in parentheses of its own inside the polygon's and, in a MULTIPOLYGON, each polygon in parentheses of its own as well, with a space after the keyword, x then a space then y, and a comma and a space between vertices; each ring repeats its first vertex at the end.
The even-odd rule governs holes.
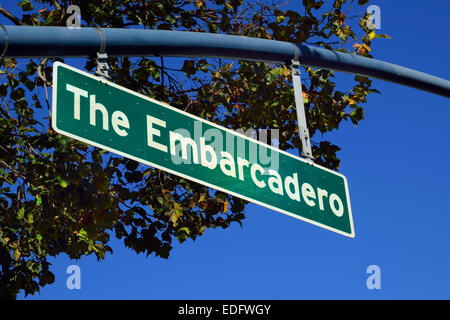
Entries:
POLYGON ((294 85, 295 109, 297 111, 298 130, 302 141, 302 156, 314 161, 311 150, 311 139, 309 137, 308 125, 306 124, 305 105, 303 104, 302 81, 300 73, 300 62, 292 60, 291 64, 292 82, 294 85))

